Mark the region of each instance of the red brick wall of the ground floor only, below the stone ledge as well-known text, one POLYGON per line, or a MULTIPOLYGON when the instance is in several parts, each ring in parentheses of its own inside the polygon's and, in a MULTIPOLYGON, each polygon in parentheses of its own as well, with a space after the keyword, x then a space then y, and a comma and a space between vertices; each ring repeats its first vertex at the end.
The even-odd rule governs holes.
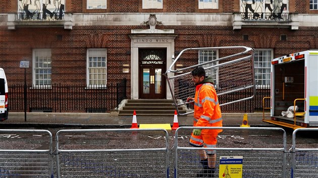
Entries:
MULTIPOLYGON (((108 81, 115 82, 119 78, 130 77, 122 73, 122 64, 130 64, 130 34, 131 29, 139 26, 95 26, 73 27, 73 30, 63 28, 18 28, 17 30, 0 29, 1 65, 6 66, 11 83, 23 81, 23 70, 19 61, 32 61, 32 49, 51 48, 52 50, 52 82, 86 84, 86 49, 107 48, 108 81), (58 41, 57 36, 62 36, 58 41), (87 39, 100 38, 103 44, 94 44, 87 39), (13 52, 14 51, 14 52, 13 52)), ((142 28, 146 28, 142 26, 142 28)), ((253 48, 273 48, 274 57, 297 51, 318 48, 318 28, 300 27, 299 30, 287 28, 242 28, 233 31, 232 27, 180 27, 161 26, 161 29, 175 29, 178 35, 175 39, 175 51, 190 47, 207 46, 237 46, 244 45, 253 48), (243 40, 243 34, 249 40, 243 40), (287 35, 287 41, 281 41, 280 35, 287 35), (206 40, 209 39, 209 40, 206 40)), ((196 53, 184 58, 193 59, 196 53)), ((220 52, 220 57, 227 53, 220 52)), ((30 66, 31 67, 31 66, 30 66)), ((31 82, 32 72, 28 69, 28 80, 31 82)), ((128 79, 128 81, 130 81, 128 79)))

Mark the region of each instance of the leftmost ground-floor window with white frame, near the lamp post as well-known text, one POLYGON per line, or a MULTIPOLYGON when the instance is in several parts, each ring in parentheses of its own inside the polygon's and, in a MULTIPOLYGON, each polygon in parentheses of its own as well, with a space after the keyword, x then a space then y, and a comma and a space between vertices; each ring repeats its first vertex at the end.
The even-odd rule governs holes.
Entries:
POLYGON ((33 50, 33 84, 50 85, 51 84, 51 50, 34 49, 33 50))

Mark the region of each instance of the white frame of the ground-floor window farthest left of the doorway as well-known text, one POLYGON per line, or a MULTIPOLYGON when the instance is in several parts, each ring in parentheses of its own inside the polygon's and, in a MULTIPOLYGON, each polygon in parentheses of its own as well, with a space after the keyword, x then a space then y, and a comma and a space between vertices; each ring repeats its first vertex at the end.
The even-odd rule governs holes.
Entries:
POLYGON ((32 84, 33 86, 43 86, 43 87, 50 87, 51 86, 51 74, 52 74, 52 67, 51 67, 51 49, 47 49, 47 48, 38 48, 38 49, 33 49, 32 50, 32 84), (48 55, 46 56, 46 58, 44 58, 44 55, 42 55, 42 58, 38 59, 38 61, 36 61, 36 55, 38 56, 38 52, 42 52, 42 53, 48 53, 48 55), (41 62, 42 61, 42 62, 41 62), (41 63, 41 64, 40 64, 41 63), (46 63, 46 64, 45 64, 46 63), (40 73, 40 72, 36 72, 36 70, 41 70, 42 72, 44 72, 46 70, 46 73, 40 73), (42 75, 42 78, 36 78, 37 75, 42 75), (46 76, 46 79, 45 79, 46 76), (46 84, 44 84, 44 81, 47 81, 46 84), (39 81, 37 83, 37 81, 39 81), (40 84, 40 81, 42 81, 42 84, 40 84))

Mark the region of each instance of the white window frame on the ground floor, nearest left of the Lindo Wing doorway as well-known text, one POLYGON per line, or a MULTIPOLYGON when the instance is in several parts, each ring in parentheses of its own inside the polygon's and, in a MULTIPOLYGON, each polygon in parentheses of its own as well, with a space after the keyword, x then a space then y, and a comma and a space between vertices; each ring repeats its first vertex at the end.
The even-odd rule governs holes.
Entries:
MULTIPOLYGON (((93 64, 92 63, 92 64, 93 64)), ((91 88, 91 87, 105 87, 107 86, 107 49, 106 48, 88 48, 86 51, 86 86, 91 88), (104 64, 103 61, 93 61, 96 62, 96 67, 93 67, 92 65, 90 65, 90 56, 93 57, 104 57, 105 61, 104 64), (98 65, 101 65, 100 67, 98 67, 98 65), (103 69, 104 67, 104 73, 96 73, 96 75, 102 75, 102 78, 90 78, 90 69, 103 69), (97 83, 104 83, 104 84, 90 84, 91 80, 97 80, 97 83), (104 81, 102 81, 104 80, 104 81)))

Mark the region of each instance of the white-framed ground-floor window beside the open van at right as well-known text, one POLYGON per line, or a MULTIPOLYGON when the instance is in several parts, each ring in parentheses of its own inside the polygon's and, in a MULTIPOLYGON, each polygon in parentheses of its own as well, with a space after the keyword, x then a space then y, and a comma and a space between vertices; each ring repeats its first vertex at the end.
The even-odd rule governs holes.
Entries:
POLYGON ((256 85, 270 85, 272 49, 255 49, 254 68, 256 85))

